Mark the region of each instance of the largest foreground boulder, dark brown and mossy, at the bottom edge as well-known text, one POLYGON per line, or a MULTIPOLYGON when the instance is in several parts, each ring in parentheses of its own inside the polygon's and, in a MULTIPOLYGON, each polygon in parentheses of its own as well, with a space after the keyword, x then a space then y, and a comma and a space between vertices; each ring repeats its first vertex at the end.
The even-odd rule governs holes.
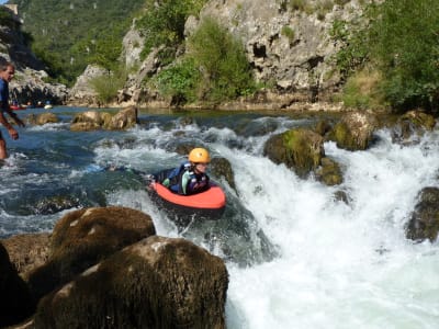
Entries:
POLYGON ((35 328, 225 328, 227 269, 183 239, 149 237, 44 297, 35 328))

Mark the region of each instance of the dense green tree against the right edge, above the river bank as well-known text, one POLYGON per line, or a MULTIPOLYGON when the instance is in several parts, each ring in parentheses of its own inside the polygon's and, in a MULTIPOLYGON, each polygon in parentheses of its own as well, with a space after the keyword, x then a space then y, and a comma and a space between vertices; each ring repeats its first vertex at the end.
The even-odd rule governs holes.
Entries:
POLYGON ((386 0, 371 11, 371 56, 396 107, 439 105, 439 1, 386 0))

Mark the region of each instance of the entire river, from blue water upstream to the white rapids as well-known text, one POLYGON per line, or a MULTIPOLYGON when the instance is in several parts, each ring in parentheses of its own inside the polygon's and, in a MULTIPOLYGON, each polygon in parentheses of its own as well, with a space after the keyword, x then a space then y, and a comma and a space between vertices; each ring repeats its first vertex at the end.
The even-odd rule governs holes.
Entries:
POLYGON ((61 123, 29 126, 16 141, 7 137, 0 238, 48 231, 78 207, 128 206, 150 214, 159 235, 184 237, 226 261, 228 328, 439 328, 439 243, 404 235, 418 192, 439 185, 439 129, 414 146, 393 144, 385 129, 367 151, 326 143, 345 177, 328 188, 262 156, 272 134, 313 117, 198 113, 183 125, 173 113, 142 112, 128 132, 72 133, 78 111, 85 109, 56 107, 61 123), (180 144, 205 146, 232 163, 237 191, 216 178, 228 200, 221 220, 179 231, 151 203, 142 177, 90 170, 156 172, 183 160, 173 151, 180 144), (349 204, 334 197, 338 190, 349 204))

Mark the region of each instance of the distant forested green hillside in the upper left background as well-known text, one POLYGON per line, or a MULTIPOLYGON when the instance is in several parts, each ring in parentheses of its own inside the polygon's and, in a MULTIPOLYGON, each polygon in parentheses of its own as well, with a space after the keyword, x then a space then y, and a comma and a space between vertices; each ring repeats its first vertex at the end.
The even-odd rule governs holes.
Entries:
POLYGON ((49 73, 71 84, 89 63, 112 69, 122 37, 145 0, 11 0, 19 5, 32 49, 49 73))

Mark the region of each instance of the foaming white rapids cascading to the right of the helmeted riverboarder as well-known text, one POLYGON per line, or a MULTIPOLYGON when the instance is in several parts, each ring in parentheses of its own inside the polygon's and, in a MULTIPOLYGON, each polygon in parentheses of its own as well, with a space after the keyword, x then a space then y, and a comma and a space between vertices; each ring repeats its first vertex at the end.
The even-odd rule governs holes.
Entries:
POLYGON ((271 262, 228 268, 228 328, 438 328, 439 246, 404 234, 420 189, 438 185, 437 140, 402 147, 381 132, 357 152, 327 143, 344 168, 335 188, 224 149, 243 202, 280 250, 271 262))

